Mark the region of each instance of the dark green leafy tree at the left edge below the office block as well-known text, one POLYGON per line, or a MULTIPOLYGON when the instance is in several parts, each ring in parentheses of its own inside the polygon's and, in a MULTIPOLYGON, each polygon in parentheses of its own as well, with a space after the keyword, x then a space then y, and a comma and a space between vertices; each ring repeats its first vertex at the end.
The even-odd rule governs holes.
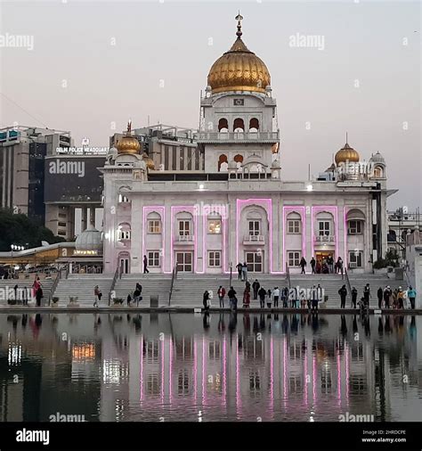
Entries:
POLYGON ((47 227, 34 224, 26 215, 13 215, 10 209, 0 209, 0 251, 11 250, 12 244, 35 248, 42 241, 53 244, 66 240, 54 236, 47 227))

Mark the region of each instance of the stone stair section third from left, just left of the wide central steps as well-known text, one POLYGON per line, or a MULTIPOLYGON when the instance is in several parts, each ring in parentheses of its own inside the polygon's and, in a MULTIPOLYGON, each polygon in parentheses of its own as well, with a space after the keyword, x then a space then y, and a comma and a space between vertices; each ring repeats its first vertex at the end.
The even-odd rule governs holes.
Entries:
POLYGON ((139 307, 150 307, 150 296, 158 295, 158 306, 168 307, 168 296, 172 282, 171 275, 122 275, 114 287, 116 298, 123 298, 126 305, 127 295, 133 295, 136 283, 142 285, 142 301, 139 307))

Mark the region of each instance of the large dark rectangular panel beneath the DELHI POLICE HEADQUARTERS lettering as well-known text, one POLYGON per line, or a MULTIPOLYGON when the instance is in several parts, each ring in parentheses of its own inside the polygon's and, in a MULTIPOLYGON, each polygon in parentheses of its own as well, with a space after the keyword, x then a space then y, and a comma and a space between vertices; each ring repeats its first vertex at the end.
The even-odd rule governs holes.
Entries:
POLYGON ((101 201, 104 157, 45 158, 45 202, 101 201))

